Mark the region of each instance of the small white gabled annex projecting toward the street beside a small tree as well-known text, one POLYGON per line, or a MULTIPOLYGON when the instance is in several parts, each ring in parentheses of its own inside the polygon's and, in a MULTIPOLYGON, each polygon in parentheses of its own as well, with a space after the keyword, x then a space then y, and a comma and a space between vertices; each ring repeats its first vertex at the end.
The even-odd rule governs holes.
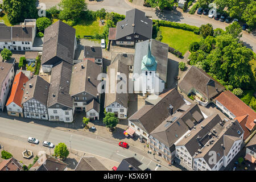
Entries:
POLYGON ((93 120, 100 119, 100 103, 94 98, 88 105, 86 105, 86 118, 93 120))

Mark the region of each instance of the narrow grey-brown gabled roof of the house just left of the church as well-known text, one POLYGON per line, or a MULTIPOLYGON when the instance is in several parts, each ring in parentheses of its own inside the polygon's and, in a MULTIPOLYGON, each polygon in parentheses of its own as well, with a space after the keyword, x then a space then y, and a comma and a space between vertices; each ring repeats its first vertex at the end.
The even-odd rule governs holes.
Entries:
MULTIPOLYGON (((105 94, 105 107, 109 106, 113 102, 118 102, 123 107, 128 107, 128 78, 129 78, 129 67, 126 64, 122 64, 119 60, 115 61, 113 64, 110 64, 108 67, 108 78, 109 80, 106 82, 106 94, 105 94), (111 72, 114 69, 114 76, 115 76, 115 92, 110 93, 110 88, 113 86, 111 78, 111 72), (126 75, 126 82, 123 78, 122 80, 117 80, 117 72, 123 73, 126 75), (126 85, 126 93, 117 93, 117 84, 119 82, 123 82, 123 85, 126 85)), ((122 75, 121 75, 122 76, 122 75)))

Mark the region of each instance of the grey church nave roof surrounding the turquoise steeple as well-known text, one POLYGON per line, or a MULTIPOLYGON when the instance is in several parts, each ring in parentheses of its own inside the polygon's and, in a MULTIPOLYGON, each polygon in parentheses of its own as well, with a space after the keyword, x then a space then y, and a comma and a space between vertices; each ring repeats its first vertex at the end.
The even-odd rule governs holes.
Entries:
POLYGON ((147 55, 148 44, 150 45, 151 54, 157 61, 156 73, 164 82, 167 81, 167 64, 168 64, 168 44, 159 42, 155 39, 138 42, 135 44, 134 54, 134 71, 133 73, 141 74, 141 64, 143 56, 147 55))

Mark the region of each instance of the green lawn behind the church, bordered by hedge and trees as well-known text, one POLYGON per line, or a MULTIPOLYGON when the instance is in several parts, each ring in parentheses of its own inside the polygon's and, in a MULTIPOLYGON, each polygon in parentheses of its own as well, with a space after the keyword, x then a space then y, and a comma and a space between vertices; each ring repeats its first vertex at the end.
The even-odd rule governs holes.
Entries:
POLYGON ((194 32, 181 30, 171 27, 160 27, 163 39, 161 42, 168 44, 170 47, 180 51, 182 55, 188 51, 191 42, 199 42, 201 36, 194 34, 194 32))

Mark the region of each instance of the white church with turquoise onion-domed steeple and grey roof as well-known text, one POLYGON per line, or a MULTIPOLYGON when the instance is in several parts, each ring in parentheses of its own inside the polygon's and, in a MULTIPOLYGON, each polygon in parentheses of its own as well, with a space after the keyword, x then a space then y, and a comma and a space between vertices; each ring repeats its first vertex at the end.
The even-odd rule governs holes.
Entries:
POLYGON ((134 93, 159 94, 167 81, 168 44, 155 39, 135 46, 133 82, 134 93))

